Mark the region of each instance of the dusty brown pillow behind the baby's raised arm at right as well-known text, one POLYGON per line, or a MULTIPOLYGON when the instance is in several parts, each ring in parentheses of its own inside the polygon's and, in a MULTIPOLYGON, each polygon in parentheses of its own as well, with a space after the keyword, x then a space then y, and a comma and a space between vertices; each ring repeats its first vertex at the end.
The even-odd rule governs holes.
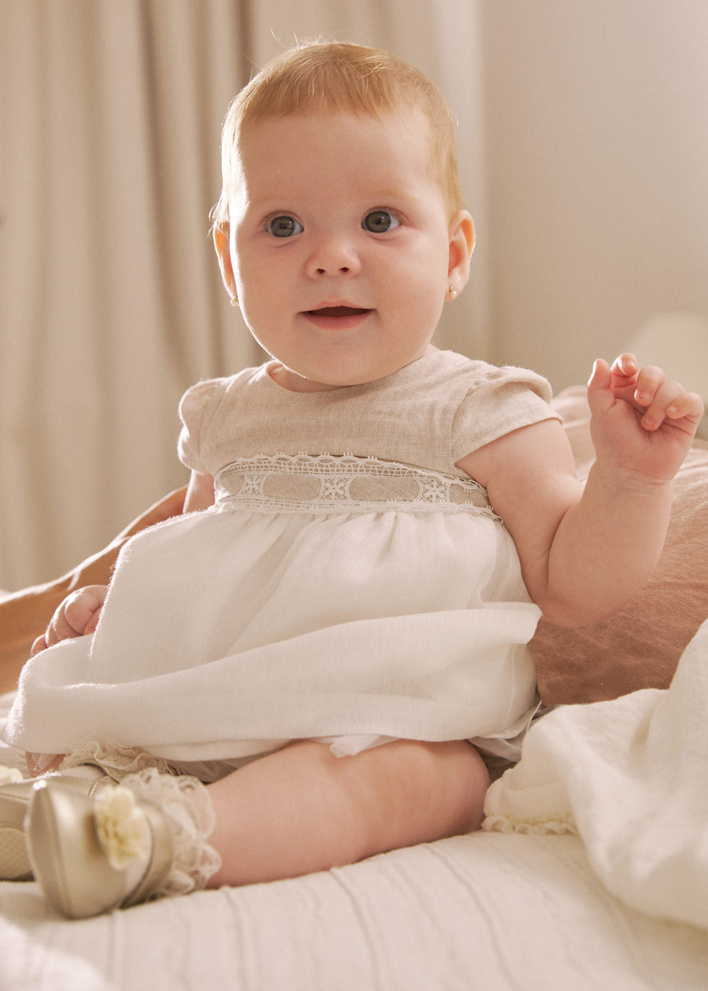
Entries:
MULTIPOLYGON (((553 399, 578 478, 595 460, 583 386, 553 399)), ((667 688, 681 653, 708 617, 708 443, 694 441, 674 483, 671 522, 649 582, 611 619, 567 629, 541 619, 531 640, 546 706, 667 688)))

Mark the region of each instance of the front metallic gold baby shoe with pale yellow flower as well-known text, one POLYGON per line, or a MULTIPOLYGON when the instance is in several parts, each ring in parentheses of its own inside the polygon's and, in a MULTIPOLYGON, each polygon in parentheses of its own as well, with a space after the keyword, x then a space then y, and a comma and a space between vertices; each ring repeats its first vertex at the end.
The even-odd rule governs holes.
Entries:
POLYGON ((146 901, 173 863, 166 816, 121 785, 93 798, 62 780, 40 779, 25 832, 35 877, 68 919, 146 901))

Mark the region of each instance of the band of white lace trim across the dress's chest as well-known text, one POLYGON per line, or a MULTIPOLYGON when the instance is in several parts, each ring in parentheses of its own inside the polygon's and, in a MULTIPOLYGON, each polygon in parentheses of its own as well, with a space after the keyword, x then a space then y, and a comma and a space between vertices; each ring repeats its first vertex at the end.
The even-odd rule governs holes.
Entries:
POLYGON ((216 475, 217 505, 269 512, 454 509, 501 521, 486 490, 395 461, 353 454, 259 454, 216 475))

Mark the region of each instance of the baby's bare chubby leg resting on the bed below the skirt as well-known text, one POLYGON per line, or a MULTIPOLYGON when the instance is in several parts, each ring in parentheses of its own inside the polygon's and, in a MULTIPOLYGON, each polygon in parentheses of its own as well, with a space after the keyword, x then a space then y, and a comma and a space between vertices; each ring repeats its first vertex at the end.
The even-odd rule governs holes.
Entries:
POLYGON ((222 857, 209 887, 298 877, 479 828, 487 768, 463 740, 353 757, 298 740, 208 786, 222 857))

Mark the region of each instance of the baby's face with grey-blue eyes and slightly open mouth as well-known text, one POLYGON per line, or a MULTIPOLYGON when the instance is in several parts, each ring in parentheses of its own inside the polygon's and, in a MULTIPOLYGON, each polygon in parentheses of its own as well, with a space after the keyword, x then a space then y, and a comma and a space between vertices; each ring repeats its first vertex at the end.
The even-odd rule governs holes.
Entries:
POLYGON ((242 168, 228 248, 276 381, 359 385, 421 357, 460 252, 423 114, 266 120, 243 136, 242 168))

